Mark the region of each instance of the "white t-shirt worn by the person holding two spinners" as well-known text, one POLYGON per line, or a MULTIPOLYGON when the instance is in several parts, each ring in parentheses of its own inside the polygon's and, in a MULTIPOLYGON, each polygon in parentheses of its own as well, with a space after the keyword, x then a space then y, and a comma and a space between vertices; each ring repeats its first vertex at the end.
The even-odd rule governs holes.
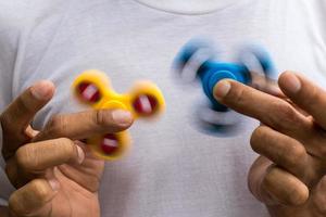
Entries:
MULTIPOLYGON (((267 48, 278 72, 293 69, 326 84, 326 2, 323 0, 57 0, 1 1, 0 111, 39 79, 58 86, 34 125, 80 107, 71 100, 74 77, 88 68, 108 73, 116 91, 139 78, 163 90, 166 113, 137 122, 127 157, 108 162, 100 201, 103 217, 267 217, 247 188, 256 157, 250 118, 233 137, 202 133, 190 123, 204 98, 184 89, 172 62, 193 37, 212 39, 231 59, 242 43, 267 48)), ((10 189, 1 170, 0 195, 10 189)))

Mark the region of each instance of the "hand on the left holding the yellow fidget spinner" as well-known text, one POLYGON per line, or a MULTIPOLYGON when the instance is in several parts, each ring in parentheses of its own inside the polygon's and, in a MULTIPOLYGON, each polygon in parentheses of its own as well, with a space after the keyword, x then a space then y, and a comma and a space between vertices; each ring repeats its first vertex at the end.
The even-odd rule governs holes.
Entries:
POLYGON ((97 217, 104 162, 82 142, 131 125, 124 111, 87 111, 54 116, 42 131, 29 123, 52 98, 54 86, 40 81, 1 114, 5 171, 17 190, 9 200, 13 217, 97 217))

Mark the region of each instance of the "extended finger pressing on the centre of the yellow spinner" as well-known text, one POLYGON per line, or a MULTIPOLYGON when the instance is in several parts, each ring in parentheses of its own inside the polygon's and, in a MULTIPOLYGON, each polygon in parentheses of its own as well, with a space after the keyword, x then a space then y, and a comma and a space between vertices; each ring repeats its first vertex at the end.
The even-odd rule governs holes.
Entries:
POLYGON ((66 137, 87 139, 95 135, 114 133, 133 124, 133 116, 124 110, 90 110, 54 116, 34 141, 66 137))

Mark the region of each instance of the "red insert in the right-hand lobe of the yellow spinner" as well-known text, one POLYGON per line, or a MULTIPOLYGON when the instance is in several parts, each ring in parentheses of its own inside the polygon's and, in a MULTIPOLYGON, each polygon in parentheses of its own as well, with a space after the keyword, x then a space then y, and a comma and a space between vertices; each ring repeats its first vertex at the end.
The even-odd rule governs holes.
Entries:
POLYGON ((135 111, 140 115, 151 115, 158 108, 156 98, 149 94, 140 94, 133 103, 135 111))

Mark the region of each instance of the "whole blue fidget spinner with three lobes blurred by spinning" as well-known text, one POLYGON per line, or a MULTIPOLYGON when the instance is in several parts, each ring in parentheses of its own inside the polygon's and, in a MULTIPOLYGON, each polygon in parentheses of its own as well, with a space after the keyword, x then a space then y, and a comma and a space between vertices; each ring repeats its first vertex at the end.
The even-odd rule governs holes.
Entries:
POLYGON ((259 46, 243 46, 233 63, 218 59, 212 42, 192 39, 186 43, 173 63, 177 80, 193 85, 200 81, 204 101, 195 103, 195 124, 200 131, 214 136, 233 136, 239 130, 241 116, 213 97, 214 86, 222 79, 234 79, 256 89, 275 82, 275 67, 268 52, 259 46))

